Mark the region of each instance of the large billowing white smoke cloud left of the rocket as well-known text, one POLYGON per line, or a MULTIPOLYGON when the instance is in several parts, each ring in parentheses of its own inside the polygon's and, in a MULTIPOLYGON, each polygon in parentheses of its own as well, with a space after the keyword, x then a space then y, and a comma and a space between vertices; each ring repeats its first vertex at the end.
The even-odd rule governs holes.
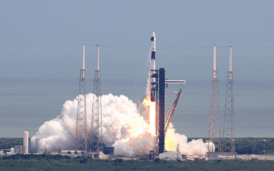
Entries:
MULTIPOLYGON (((86 95, 87 132, 91 128, 93 94, 86 95)), ((66 101, 62 112, 55 119, 46 121, 30 140, 30 148, 57 151, 74 149, 78 99, 66 101)), ((114 146, 114 154, 128 156, 146 155, 155 150, 156 137, 149 133, 149 124, 140 116, 137 106, 127 97, 112 94, 101 96, 103 141, 114 146)))

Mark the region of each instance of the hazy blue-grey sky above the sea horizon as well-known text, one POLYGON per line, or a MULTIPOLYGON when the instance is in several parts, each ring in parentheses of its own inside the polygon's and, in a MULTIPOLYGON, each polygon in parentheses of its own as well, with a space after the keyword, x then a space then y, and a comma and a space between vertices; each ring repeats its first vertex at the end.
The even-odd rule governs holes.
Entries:
POLYGON ((274 1, 4 1, 0 0, 0 77, 148 76, 150 37, 156 68, 169 79, 211 80, 213 45, 219 79, 232 46, 234 80, 271 80, 274 1))

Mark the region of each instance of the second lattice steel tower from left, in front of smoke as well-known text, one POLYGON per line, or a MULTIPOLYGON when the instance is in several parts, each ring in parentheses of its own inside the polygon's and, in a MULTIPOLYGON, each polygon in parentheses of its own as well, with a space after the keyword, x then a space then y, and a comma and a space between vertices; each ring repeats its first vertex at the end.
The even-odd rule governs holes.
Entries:
POLYGON ((91 151, 103 151, 99 45, 97 45, 97 70, 94 73, 90 145, 91 151))

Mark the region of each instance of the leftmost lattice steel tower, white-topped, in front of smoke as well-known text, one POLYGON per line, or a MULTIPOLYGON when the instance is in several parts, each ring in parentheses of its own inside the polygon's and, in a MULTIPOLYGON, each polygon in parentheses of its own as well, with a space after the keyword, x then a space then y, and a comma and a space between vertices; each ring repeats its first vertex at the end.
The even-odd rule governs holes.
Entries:
POLYGON ((75 149, 87 151, 87 109, 85 78, 85 45, 83 45, 83 69, 80 70, 78 111, 75 135, 75 149))

